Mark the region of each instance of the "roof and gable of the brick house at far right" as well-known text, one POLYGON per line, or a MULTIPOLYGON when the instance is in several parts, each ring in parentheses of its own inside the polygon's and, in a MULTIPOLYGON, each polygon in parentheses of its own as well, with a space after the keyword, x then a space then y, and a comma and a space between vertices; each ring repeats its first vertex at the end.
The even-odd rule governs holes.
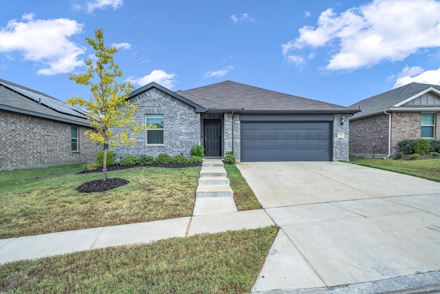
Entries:
POLYGON ((437 98, 428 100, 430 93, 440 95, 440 85, 410 83, 350 105, 350 108, 361 110, 358 114, 353 115, 351 119, 375 116, 384 111, 397 110, 397 107, 401 107, 401 110, 408 110, 409 107, 439 107, 440 105, 435 102, 437 98), (424 103, 423 95, 426 95, 426 102, 424 103), (417 101, 417 99, 420 100, 420 103, 410 103, 410 101, 417 101))

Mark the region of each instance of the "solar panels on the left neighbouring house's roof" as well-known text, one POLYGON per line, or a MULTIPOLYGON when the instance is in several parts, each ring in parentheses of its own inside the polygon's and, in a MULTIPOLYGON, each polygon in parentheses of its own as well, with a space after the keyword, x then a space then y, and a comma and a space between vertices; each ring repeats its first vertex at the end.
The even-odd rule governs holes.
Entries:
POLYGON ((69 114, 72 116, 78 116, 80 118, 84 118, 84 116, 86 115, 86 112, 83 109, 72 107, 70 105, 65 105, 62 101, 59 101, 55 98, 45 96, 43 94, 39 94, 29 90, 25 90, 21 87, 10 85, 8 83, 3 83, 3 85, 6 85, 10 89, 20 94, 23 94, 24 96, 27 96, 28 98, 31 98, 32 100, 41 103, 46 107, 50 107, 51 109, 54 109, 56 112, 61 112, 62 114, 69 114))

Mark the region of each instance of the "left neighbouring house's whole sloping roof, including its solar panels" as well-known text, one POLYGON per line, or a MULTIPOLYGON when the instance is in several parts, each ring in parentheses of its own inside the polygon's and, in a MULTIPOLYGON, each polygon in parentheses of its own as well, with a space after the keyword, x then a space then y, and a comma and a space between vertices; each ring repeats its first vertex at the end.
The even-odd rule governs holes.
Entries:
POLYGON ((90 126, 82 109, 52 96, 0 79, 0 109, 64 123, 90 126))

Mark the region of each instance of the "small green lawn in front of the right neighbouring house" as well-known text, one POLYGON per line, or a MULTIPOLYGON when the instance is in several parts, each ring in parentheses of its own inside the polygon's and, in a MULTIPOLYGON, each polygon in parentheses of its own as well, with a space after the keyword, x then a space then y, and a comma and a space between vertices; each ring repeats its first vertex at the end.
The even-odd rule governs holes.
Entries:
POLYGON ((356 165, 395 171, 400 174, 440 182, 440 159, 393 160, 391 158, 350 158, 350 162, 356 165))

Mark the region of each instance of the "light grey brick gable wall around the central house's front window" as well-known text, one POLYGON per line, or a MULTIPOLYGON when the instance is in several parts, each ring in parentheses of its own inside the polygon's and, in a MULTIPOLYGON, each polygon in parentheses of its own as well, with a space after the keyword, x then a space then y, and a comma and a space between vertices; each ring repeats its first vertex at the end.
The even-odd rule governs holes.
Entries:
MULTIPOLYGON (((133 119, 135 123, 144 125, 146 114, 164 115, 164 144, 146 145, 146 131, 141 131, 140 136, 136 138, 135 147, 111 148, 115 151, 118 160, 127 155, 143 154, 153 157, 162 153, 170 156, 177 154, 190 156, 191 147, 201 144, 200 115, 195 113, 194 107, 156 88, 131 98, 130 103, 134 103, 139 108, 133 119)), ((118 128, 115 128, 114 132, 118 132, 118 128)))

